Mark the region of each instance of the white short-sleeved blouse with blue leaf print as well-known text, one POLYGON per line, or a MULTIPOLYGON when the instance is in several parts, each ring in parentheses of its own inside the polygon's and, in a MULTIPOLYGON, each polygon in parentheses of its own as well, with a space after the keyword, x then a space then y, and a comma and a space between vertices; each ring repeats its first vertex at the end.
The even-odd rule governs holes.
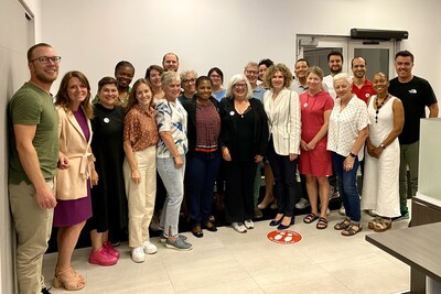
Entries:
MULTIPOLYGON (((179 154, 185 155, 189 151, 189 142, 186 139, 187 113, 184 107, 178 99, 174 102, 161 99, 158 100, 155 110, 158 131, 171 132, 179 154)), ((162 139, 158 143, 157 157, 173 157, 162 139)))

